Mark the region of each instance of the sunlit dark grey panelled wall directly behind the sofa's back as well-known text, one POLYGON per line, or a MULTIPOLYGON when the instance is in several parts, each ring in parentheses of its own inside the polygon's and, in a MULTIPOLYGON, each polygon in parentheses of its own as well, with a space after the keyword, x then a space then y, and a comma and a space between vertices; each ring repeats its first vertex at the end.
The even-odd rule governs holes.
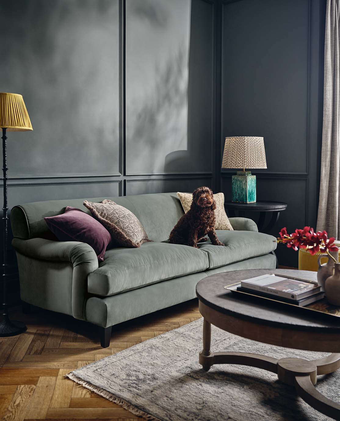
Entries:
POLYGON ((0 91, 22 93, 34 129, 8 135, 10 206, 213 184, 212 1, 8 0, 0 13, 0 91))

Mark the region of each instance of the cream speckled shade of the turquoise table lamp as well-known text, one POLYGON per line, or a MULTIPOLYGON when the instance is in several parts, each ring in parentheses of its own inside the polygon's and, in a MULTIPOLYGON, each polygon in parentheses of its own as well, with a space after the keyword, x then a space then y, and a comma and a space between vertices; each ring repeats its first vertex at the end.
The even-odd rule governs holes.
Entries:
POLYGON ((222 168, 267 168, 263 137, 226 137, 222 168))

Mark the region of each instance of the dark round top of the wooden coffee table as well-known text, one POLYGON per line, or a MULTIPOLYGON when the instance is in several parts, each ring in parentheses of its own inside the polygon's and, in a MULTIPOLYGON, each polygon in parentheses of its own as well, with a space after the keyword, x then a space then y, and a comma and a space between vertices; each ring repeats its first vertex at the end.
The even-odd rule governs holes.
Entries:
POLYGON ((316 280, 316 272, 290 269, 246 269, 221 272, 202 279, 196 286, 198 299, 208 307, 238 319, 266 326, 322 333, 340 333, 340 318, 287 306, 275 301, 232 293, 225 290, 241 280, 266 273, 277 273, 316 280), (242 295, 242 296, 241 296, 242 295))

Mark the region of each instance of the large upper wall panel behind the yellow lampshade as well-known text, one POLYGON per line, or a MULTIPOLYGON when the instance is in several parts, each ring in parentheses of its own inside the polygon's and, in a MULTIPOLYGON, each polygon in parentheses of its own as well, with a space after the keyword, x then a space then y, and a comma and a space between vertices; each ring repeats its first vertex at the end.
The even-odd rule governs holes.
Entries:
POLYGON ((118 174, 118 0, 2 1, 0 91, 33 131, 8 133, 10 177, 118 174))

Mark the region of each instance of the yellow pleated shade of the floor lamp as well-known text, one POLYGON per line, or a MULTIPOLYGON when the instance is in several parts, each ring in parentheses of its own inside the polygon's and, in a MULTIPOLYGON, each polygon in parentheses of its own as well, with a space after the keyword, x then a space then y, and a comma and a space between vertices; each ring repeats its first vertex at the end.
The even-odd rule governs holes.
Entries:
POLYGON ((7 131, 33 130, 22 95, 0 92, 0 128, 7 131))

